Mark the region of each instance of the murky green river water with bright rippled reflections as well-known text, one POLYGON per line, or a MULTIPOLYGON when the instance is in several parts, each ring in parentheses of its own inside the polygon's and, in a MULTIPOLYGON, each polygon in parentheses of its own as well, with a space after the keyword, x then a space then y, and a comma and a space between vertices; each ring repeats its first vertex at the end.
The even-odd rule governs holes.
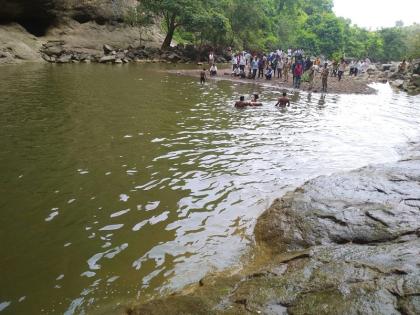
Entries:
POLYGON ((0 72, 0 311, 92 312, 237 263, 305 180, 398 158, 419 98, 210 82, 157 66, 0 72), (264 106, 236 110, 239 95, 264 106))

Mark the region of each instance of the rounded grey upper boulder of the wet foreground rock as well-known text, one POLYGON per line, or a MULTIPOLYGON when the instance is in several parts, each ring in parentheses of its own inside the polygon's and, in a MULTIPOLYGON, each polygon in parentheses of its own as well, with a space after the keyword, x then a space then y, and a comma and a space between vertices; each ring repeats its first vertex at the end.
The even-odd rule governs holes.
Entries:
POLYGON ((420 158, 319 177, 276 200, 256 227, 279 251, 392 241, 420 231, 420 158))

